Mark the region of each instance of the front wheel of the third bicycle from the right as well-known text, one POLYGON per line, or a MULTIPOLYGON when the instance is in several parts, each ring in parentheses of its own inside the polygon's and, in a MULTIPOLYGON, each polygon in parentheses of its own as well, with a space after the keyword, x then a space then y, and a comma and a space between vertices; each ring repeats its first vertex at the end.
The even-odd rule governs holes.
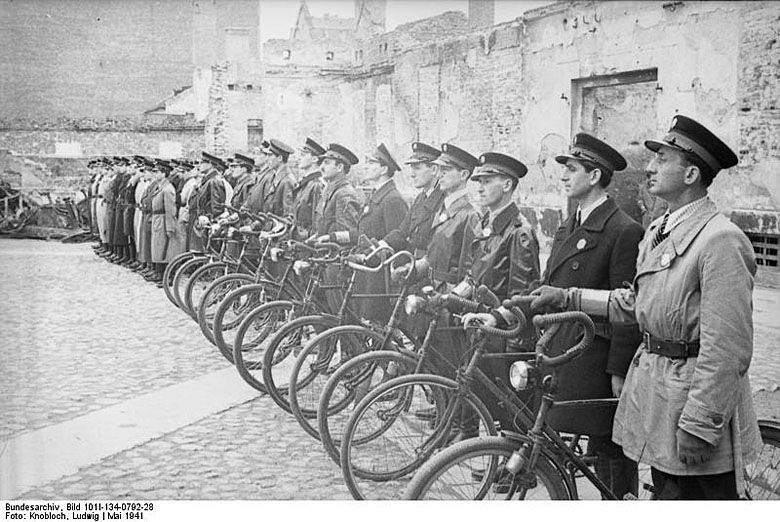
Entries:
POLYGON ((340 464, 341 438, 354 407, 380 384, 413 373, 418 360, 414 352, 380 350, 358 355, 331 375, 320 393, 317 431, 336 464, 340 464))

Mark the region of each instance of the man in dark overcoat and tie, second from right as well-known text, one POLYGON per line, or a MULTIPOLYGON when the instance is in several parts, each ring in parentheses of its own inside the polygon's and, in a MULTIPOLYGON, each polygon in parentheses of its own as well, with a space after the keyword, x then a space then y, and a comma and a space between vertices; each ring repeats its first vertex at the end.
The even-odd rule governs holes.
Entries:
MULTIPOLYGON (((585 286, 600 290, 621 288, 636 274, 636 257, 644 230, 631 219, 607 190, 626 160, 607 143, 577 134, 571 148, 555 160, 563 165, 561 182, 577 209, 558 228, 542 279, 545 285, 585 286)), ((566 327, 553 340, 563 351, 576 342, 576 329, 566 327)), ((620 397, 631 358, 641 343, 636 326, 600 328, 582 357, 559 370, 560 400, 620 397)), ((565 426, 559 426, 565 429, 565 426)), ((636 464, 611 441, 612 421, 588 433, 588 452, 597 458, 596 474, 618 497, 637 494, 636 464)))

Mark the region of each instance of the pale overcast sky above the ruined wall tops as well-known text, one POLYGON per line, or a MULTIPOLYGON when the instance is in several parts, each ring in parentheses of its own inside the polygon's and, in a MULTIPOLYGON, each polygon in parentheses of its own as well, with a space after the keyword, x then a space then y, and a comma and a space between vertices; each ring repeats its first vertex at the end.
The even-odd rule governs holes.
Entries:
MULTIPOLYGON (((353 0, 307 0, 306 3, 313 16, 330 13, 349 18, 355 15, 353 0)), ((496 0, 496 23, 514 20, 529 9, 550 3, 553 0, 496 0)), ((261 0, 261 40, 289 38, 299 5, 299 0, 261 0)), ((468 13, 468 0, 387 0, 387 30, 445 11, 468 13)))

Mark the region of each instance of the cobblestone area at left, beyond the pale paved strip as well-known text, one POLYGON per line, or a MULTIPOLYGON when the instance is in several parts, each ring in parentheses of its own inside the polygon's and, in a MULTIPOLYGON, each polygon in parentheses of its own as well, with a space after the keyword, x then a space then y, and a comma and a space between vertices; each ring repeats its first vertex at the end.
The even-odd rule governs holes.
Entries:
POLYGON ((198 326, 88 244, 0 238, 0 441, 224 368, 198 326))

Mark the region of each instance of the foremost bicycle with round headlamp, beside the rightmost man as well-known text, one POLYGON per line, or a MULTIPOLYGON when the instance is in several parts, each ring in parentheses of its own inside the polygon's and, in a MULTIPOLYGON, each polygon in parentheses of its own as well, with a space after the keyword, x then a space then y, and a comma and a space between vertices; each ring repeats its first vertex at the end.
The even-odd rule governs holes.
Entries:
MULTIPOLYGON (((543 328, 550 324, 551 317, 563 317, 564 314, 538 316, 533 322, 537 328, 543 328)), ((548 356, 545 350, 546 344, 540 340, 533 360, 518 361, 513 365, 515 388, 524 389, 531 384, 542 395, 535 421, 527 434, 505 430, 500 436, 467 440, 444 449, 419 468, 404 499, 574 500, 578 498, 576 479, 579 477, 595 486, 602 498, 617 499, 590 471, 592 459, 578 454, 578 437, 567 443, 554 436, 555 432, 547 425, 555 404, 556 368, 577 354, 576 347, 556 357, 548 356)), ((763 459, 760 455, 759 460, 748 467, 746 494, 748 498, 777 498, 780 495, 777 471, 780 425, 759 421, 759 427, 766 450, 762 455, 766 455, 763 459)), ((643 491, 652 492, 652 486, 645 484, 640 488, 640 494, 643 491)))

